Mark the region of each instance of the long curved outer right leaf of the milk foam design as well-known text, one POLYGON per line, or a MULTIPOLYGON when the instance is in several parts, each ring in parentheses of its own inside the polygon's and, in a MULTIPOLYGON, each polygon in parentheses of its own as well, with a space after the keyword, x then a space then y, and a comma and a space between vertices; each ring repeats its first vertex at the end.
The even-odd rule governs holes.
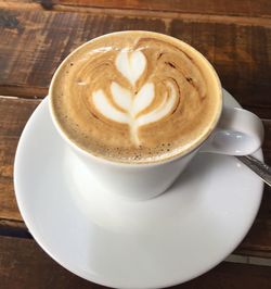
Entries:
POLYGON ((151 123, 155 123, 158 120, 167 116, 173 109, 176 99, 177 99, 177 91, 175 86, 168 81, 167 83, 168 92, 164 96, 162 103, 155 110, 151 111, 150 113, 143 114, 137 120, 137 126, 142 126, 151 123))

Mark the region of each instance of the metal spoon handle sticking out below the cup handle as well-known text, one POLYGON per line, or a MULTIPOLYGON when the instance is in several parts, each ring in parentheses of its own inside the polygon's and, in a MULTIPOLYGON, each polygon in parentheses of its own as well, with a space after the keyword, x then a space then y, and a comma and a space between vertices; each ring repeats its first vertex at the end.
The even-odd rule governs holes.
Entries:
POLYGON ((256 173, 268 186, 271 187, 271 167, 253 155, 242 155, 236 158, 256 173))

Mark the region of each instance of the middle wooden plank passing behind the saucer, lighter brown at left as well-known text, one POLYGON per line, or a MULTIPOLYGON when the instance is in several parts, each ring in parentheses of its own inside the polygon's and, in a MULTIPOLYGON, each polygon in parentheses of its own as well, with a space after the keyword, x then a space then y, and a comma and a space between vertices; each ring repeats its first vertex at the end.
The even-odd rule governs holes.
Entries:
MULTIPOLYGON (((16 224, 22 222, 13 190, 13 160, 16 143, 23 127, 39 100, 23 100, 0 97, 0 234, 1 227, 11 235, 16 234, 16 224), (1 225, 2 224, 2 225, 1 225), (9 229, 9 230, 8 230, 9 229)), ((264 156, 271 163, 271 121, 264 121, 264 156)), ((18 226, 22 230, 24 228, 18 226)), ((266 187, 259 214, 249 234, 236 253, 271 257, 271 189, 266 187)))

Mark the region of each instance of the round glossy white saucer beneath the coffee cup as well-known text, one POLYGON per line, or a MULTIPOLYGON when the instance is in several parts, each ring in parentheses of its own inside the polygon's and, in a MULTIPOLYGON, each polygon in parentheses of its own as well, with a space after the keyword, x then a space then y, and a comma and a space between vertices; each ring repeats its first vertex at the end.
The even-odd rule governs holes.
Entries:
MULTIPOLYGON (((224 99, 238 106, 227 91, 224 99)), ((255 155, 262 160, 261 150, 255 155)), ((80 277, 126 289, 172 286, 216 266, 247 234, 263 188, 235 158, 201 153, 156 199, 104 196, 55 131, 47 99, 24 129, 14 169, 20 211, 43 250, 80 277)))

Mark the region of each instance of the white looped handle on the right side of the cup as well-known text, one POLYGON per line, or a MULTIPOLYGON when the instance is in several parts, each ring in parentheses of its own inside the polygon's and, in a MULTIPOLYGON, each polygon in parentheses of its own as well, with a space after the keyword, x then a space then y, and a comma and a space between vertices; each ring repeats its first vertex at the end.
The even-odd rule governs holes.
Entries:
POLYGON ((245 155, 258 150, 262 140, 263 126, 258 116, 240 108, 224 106, 216 130, 199 151, 245 155))

